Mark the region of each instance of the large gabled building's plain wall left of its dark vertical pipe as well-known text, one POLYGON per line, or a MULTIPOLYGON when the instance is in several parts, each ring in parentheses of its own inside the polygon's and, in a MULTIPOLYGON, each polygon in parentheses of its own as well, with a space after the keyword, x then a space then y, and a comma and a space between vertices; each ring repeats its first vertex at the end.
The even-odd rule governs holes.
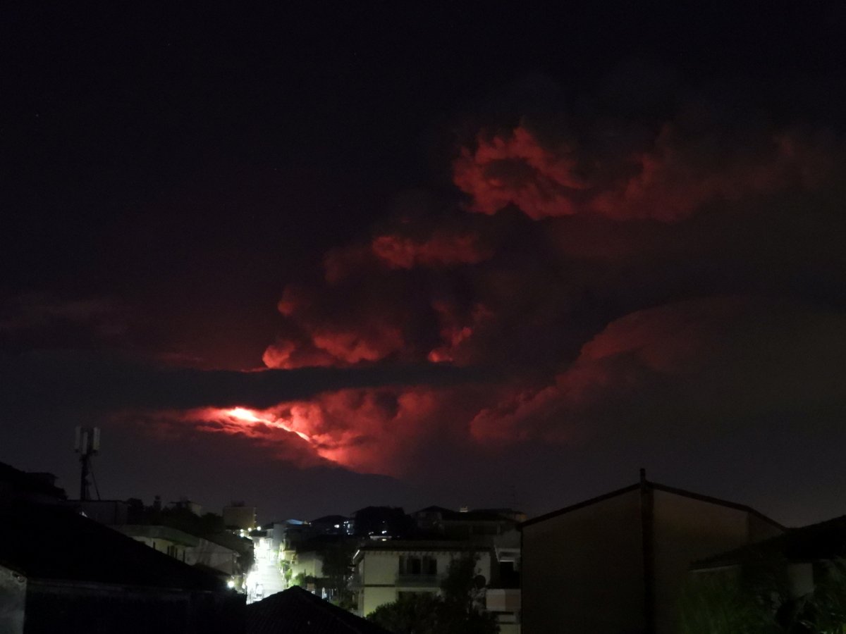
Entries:
POLYGON ((523 527, 525 634, 644 627, 640 490, 523 527))

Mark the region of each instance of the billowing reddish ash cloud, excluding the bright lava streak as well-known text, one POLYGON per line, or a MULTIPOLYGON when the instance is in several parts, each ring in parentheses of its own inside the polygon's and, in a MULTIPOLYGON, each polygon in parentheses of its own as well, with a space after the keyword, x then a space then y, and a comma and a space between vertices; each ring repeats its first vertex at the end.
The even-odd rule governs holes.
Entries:
POLYGON ((397 425, 338 396, 317 418, 339 451, 345 434, 362 443, 346 464, 398 474, 431 460, 421 447, 443 418, 451 446, 495 460, 843 412, 841 134, 683 92, 641 96, 628 118, 605 95, 592 114, 590 100, 547 103, 477 126, 452 163, 464 205, 415 199, 327 254, 323 279, 288 286, 271 367, 428 361, 496 377, 432 390, 431 409, 397 425), (361 448, 372 429, 389 450, 361 448))

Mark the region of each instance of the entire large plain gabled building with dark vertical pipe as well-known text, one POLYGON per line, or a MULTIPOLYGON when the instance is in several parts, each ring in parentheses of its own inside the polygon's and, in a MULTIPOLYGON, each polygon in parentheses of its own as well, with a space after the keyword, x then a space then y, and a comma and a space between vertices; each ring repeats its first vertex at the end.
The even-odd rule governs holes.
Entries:
POLYGON ((674 634, 690 564, 783 533, 748 506, 646 480, 522 526, 525 634, 674 634))

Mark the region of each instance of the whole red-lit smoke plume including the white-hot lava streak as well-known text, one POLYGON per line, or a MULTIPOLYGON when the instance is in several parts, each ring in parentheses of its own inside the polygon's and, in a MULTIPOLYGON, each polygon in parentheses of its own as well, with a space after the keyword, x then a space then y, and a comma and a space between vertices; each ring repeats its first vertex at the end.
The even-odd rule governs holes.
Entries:
MULTIPOLYGON (((836 164, 830 139, 764 124, 739 132, 685 112, 633 128, 596 123, 577 138, 522 123, 478 134, 452 166, 475 213, 453 205, 452 216, 399 214, 332 249, 319 279, 285 287, 277 341, 263 357, 273 369, 431 363, 492 376, 460 387, 327 390, 261 410, 196 409, 184 419, 277 447, 297 464, 403 475, 425 451, 437 454, 429 443, 485 451, 539 439, 567 444, 623 424, 620 411, 650 418, 664 403, 716 407, 712 396, 735 388, 708 369, 739 367, 742 355, 733 354, 783 310, 759 301, 758 287, 793 292, 767 278, 780 262, 777 248, 756 250, 762 264, 746 265, 752 242, 738 246, 734 223, 748 225, 750 236, 793 227, 792 211, 744 219, 746 204, 824 183, 836 164), (698 214, 708 205, 717 213, 698 214), (498 213, 508 207, 522 214, 498 213), (706 237, 711 276, 693 257, 706 237), (723 252, 735 260, 720 260, 723 252), (720 290, 722 271, 731 272, 728 291, 720 290), (688 278, 705 289, 701 297, 690 299, 688 278), (617 403, 624 406, 613 411, 617 403)), ((797 331, 841 328, 796 320, 797 331)), ((786 348, 788 332, 755 340, 750 358, 786 348)), ((801 357, 785 354, 785 367, 801 357)), ((744 371, 788 385, 774 367, 744 371)))

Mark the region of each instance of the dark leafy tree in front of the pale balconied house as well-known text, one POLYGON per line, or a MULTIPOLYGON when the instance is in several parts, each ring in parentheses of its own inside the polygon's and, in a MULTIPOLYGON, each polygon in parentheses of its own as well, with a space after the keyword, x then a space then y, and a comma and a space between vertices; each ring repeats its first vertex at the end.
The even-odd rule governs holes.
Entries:
POLYGON ((408 593, 367 618, 396 634, 497 634, 497 617, 482 609, 484 583, 476 577, 478 555, 450 562, 440 595, 408 593))

